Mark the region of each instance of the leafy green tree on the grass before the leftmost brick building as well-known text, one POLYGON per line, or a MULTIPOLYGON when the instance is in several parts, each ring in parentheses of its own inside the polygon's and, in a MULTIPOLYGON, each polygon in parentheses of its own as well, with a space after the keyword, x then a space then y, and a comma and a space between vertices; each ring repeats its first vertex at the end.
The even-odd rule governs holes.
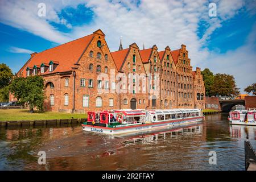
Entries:
POLYGON ((44 102, 44 80, 40 76, 15 77, 10 84, 10 92, 24 104, 30 105, 30 112, 34 112, 34 107, 43 110, 44 102))

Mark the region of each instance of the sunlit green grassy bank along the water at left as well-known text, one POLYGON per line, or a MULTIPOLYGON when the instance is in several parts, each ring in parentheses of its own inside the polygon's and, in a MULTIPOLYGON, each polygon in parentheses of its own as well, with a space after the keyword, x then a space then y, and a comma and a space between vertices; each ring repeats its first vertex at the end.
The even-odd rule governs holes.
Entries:
POLYGON ((57 113, 52 111, 29 113, 26 109, 1 109, 0 121, 87 118, 87 114, 57 113))

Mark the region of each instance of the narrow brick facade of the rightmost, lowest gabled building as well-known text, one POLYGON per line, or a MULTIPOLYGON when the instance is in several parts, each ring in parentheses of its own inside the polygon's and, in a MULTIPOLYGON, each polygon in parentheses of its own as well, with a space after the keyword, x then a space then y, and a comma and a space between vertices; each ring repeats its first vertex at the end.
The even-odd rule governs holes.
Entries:
POLYGON ((195 108, 205 109, 205 86, 203 75, 201 75, 201 69, 196 67, 196 71, 194 73, 195 76, 193 77, 193 92, 195 108))

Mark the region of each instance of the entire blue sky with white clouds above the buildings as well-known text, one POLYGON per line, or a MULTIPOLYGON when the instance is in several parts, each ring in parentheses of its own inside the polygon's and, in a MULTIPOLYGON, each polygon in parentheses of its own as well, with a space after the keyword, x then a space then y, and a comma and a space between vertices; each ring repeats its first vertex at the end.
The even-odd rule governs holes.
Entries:
POLYGON ((187 45, 193 68, 234 75, 243 88, 255 82, 255 1, 0 1, 0 62, 18 72, 30 53, 91 34, 101 28, 110 51, 135 42, 161 51, 187 45), (38 16, 38 4, 46 16, 38 16))

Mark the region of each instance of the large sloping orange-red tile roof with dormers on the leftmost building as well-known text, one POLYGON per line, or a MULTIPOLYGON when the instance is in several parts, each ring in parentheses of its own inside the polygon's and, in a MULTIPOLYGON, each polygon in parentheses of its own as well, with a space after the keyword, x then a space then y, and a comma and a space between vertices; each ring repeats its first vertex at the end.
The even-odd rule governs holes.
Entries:
POLYGON ((34 57, 23 69, 23 76, 26 75, 27 67, 34 67, 34 65, 49 64, 50 61, 58 64, 56 69, 52 72, 44 72, 42 75, 46 75, 48 73, 56 73, 56 72, 65 72, 71 71, 72 67, 74 67, 79 60, 82 53, 85 51, 88 44, 93 39, 93 34, 84 36, 80 39, 73 40, 71 42, 61 44, 60 46, 53 47, 47 49, 46 51, 36 53, 34 57))

